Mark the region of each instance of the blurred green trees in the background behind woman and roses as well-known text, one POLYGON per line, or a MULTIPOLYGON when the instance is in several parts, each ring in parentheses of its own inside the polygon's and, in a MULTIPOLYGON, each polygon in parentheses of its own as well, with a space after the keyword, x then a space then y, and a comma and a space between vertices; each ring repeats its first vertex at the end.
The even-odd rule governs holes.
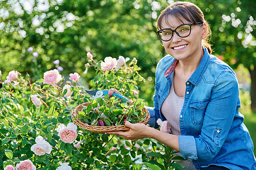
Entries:
MULTIPOLYGON (((251 108, 256 110, 255 3, 253 0, 191 0, 212 29, 214 54, 251 75, 251 108)), ((60 60, 61 74, 82 74, 86 53, 136 57, 146 84, 140 97, 152 105, 156 63, 166 52, 156 35, 156 19, 174 1, 6 0, 0 2, 0 69, 42 78, 60 60), (32 46, 38 57, 27 49, 32 46)), ((84 75, 85 80, 94 75, 84 75)))

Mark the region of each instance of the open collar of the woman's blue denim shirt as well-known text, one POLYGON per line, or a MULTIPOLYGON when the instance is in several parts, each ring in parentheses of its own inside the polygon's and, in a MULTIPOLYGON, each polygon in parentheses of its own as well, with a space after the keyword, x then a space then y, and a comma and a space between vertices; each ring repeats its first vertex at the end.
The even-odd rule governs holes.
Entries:
MULTIPOLYGON (((205 69, 207 68, 206 67, 206 65, 208 63, 207 61, 210 56, 210 54, 208 53, 208 50, 205 46, 203 46, 203 49, 204 49, 204 56, 201 59, 199 66, 197 67, 195 72, 188 79, 188 81, 191 82, 192 84, 194 84, 195 86, 197 83, 199 83, 199 80, 201 79, 201 75, 203 75, 205 69)), ((165 77, 169 76, 172 72, 174 72, 174 69, 175 69, 178 61, 179 60, 175 59, 175 61, 172 63, 172 65, 166 70, 166 72, 164 72, 165 77)))

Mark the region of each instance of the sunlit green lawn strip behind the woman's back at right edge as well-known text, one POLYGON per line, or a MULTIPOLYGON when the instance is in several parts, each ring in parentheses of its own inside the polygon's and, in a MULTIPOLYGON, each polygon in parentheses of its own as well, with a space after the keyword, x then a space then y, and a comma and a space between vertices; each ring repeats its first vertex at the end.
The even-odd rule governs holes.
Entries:
POLYGON ((250 132, 251 139, 253 139, 254 155, 256 155, 256 113, 253 113, 250 110, 241 110, 240 112, 245 116, 244 123, 250 132))

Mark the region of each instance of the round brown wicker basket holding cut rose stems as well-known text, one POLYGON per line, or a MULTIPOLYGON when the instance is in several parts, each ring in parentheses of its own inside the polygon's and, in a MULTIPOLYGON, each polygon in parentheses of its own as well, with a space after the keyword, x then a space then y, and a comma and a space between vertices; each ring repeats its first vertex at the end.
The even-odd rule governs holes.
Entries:
MULTIPOLYGON (((127 102, 130 103, 131 101, 127 101, 127 102)), ((75 109, 73 109, 73 112, 71 114, 74 124, 76 124, 77 126, 80 126, 80 128, 92 131, 94 133, 106 133, 108 131, 118 131, 118 130, 126 131, 126 130, 130 129, 130 128, 127 128, 125 125, 92 126, 92 125, 87 125, 84 122, 80 121, 79 116, 77 116, 77 114, 79 114, 79 112, 83 109, 82 106, 87 107, 89 104, 90 104, 90 102, 86 102, 86 103, 82 103, 82 104, 78 105, 75 109), (75 118, 76 116, 77 116, 77 118, 75 118)), ((141 122, 138 122, 138 123, 146 124, 148 122, 148 120, 150 119, 150 113, 148 112, 148 110, 146 108, 143 108, 142 112, 146 113, 146 117, 141 122)))

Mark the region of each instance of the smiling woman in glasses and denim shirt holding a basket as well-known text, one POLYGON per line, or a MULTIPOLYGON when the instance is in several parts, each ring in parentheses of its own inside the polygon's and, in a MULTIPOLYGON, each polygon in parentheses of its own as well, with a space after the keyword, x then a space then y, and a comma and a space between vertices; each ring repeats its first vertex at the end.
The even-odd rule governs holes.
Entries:
MULTIPOLYGON (((158 18, 166 52, 156 67, 154 108, 149 124, 167 120, 172 134, 126 121, 119 137, 154 138, 181 153, 184 169, 256 169, 253 142, 243 124, 234 71, 217 57, 207 40, 208 23, 199 7, 176 2, 158 18)), ((116 90, 110 90, 109 95, 116 90)))

